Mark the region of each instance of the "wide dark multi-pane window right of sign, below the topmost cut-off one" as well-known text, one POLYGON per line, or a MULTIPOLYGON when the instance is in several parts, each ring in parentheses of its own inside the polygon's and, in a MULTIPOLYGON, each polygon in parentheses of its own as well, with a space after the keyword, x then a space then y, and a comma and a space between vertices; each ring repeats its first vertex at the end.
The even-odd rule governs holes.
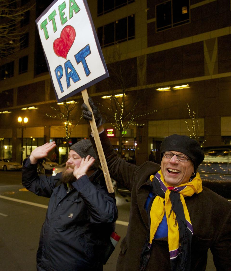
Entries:
POLYGON ((135 38, 135 15, 131 15, 98 28, 101 47, 135 38))

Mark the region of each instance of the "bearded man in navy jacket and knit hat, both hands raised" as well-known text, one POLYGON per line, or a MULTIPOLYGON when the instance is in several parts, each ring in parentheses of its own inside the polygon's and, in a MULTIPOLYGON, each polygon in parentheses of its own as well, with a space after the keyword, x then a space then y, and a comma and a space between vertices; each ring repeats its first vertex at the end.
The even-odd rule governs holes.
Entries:
POLYGON ((51 142, 34 149, 22 169, 23 186, 50 198, 40 233, 37 270, 102 271, 118 217, 115 195, 107 192, 90 140, 71 146, 62 173, 38 176, 38 159, 55 146, 51 142))

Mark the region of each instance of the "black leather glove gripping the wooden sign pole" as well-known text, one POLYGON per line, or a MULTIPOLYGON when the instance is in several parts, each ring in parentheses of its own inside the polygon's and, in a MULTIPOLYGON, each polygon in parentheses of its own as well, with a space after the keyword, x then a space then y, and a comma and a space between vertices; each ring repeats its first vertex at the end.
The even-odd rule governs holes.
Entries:
MULTIPOLYGON (((105 119, 101 116, 99 108, 94 104, 93 100, 91 99, 91 97, 88 98, 88 102, 91 106, 95 121, 96 121, 96 126, 97 128, 100 127, 101 125, 103 125, 105 123, 105 119)), ((81 108, 83 109, 83 118, 84 120, 86 120, 87 122, 89 122, 89 120, 92 120, 92 113, 91 111, 88 110, 87 105, 86 104, 82 104, 81 108)))

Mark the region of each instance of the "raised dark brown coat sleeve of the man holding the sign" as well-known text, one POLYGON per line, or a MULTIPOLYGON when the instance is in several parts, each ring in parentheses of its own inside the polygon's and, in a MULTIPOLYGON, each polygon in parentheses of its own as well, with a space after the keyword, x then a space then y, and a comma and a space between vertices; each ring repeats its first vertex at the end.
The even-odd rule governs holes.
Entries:
MULTIPOLYGON (((115 153, 105 131, 101 133, 99 137, 111 177, 131 191, 132 186, 135 183, 135 174, 137 173, 139 166, 126 162, 115 153)), ((97 153, 94 138, 90 136, 90 140, 97 153)))

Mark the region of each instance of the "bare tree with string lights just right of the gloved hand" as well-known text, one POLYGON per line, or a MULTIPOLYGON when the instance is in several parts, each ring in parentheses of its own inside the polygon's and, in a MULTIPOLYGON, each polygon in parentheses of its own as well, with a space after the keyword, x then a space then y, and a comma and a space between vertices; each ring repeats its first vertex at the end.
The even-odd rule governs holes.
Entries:
MULTIPOLYGON (((111 125, 119 131, 118 154, 122 154, 122 136, 130 125, 143 126, 138 124, 137 120, 142 120, 146 115, 152 112, 137 114, 137 107, 145 95, 145 89, 129 91, 129 88, 137 86, 137 59, 122 59, 119 47, 105 54, 110 77, 101 81, 99 86, 101 91, 107 91, 103 102, 97 101, 100 111, 111 125), (130 99, 127 98, 129 94, 130 99), (132 102, 133 101, 133 104, 132 102)), ((139 69, 142 67, 139 67, 139 69)), ((139 121, 140 122, 140 121, 139 121)))

